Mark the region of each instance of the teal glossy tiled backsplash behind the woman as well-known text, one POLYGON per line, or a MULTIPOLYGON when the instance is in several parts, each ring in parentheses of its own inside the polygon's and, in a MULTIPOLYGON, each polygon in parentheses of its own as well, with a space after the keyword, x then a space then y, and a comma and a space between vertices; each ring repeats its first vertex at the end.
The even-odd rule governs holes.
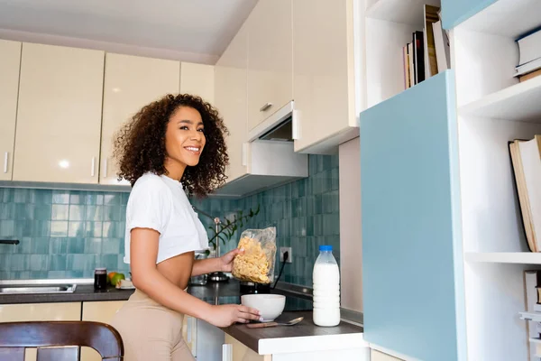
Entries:
MULTIPOLYGON (((318 245, 340 255, 338 156, 310 155, 307 179, 244 199, 204 199, 193 204, 213 217, 261 207, 246 227, 277 227, 277 246, 291 246, 293 263, 284 281, 310 285, 318 245)), ((0 188, 0 279, 92 277, 94 268, 128 271, 124 264, 124 218, 129 193, 0 188)), ((209 227, 212 219, 200 215, 209 227)), ((209 236, 213 232, 209 230, 209 236)), ((222 246, 233 249, 234 237, 222 246)), ((276 273, 280 264, 276 264, 276 273)))

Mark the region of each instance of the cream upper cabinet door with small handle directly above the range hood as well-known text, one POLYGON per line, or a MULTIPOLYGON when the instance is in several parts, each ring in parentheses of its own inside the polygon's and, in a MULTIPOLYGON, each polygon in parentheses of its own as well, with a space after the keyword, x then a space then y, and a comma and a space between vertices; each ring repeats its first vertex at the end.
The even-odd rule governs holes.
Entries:
POLYGON ((260 0, 248 27, 248 130, 293 98, 291 0, 260 0))

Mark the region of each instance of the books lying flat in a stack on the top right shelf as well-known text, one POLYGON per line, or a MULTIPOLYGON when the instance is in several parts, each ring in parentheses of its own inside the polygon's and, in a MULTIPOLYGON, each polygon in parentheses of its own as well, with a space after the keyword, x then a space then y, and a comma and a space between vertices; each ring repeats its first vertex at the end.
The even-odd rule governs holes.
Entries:
POLYGON ((541 28, 527 32, 517 40, 518 65, 515 77, 520 82, 541 74, 541 28))

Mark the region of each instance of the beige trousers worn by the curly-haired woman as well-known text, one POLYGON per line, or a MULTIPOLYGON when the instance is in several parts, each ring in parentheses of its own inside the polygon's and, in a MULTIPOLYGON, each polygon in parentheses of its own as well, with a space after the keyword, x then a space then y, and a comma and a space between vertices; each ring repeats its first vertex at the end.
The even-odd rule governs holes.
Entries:
POLYGON ((182 319, 135 290, 111 321, 124 342, 124 361, 195 360, 182 338, 182 319))

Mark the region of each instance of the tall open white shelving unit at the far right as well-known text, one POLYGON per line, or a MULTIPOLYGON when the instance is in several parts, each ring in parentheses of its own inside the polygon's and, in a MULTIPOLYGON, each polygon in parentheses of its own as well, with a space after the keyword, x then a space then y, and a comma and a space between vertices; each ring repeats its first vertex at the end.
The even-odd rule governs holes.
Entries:
POLYGON ((515 42, 541 2, 498 0, 451 31, 456 77, 469 360, 527 360, 527 248, 508 142, 541 134, 541 78, 519 83, 515 42))

